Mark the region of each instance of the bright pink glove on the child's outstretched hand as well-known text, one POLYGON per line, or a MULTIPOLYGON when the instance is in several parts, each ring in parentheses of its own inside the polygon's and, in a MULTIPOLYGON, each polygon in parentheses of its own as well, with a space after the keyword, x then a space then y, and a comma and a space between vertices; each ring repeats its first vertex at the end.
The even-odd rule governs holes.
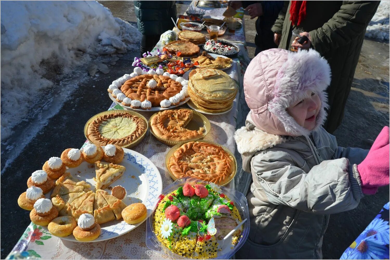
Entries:
POLYGON ((375 194, 378 187, 389 185, 389 149, 389 127, 385 126, 358 165, 364 194, 375 194))

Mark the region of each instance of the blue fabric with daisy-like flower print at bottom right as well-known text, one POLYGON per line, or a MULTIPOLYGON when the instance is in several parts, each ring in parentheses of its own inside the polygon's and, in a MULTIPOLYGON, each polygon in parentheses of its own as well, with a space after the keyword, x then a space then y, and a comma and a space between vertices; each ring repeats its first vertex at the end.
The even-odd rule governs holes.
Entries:
POLYGON ((389 202, 340 259, 389 259, 389 202))

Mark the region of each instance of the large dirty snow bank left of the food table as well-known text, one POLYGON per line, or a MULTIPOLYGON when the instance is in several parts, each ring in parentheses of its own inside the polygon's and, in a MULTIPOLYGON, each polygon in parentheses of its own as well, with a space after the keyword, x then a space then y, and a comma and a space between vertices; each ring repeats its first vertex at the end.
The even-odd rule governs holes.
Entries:
POLYGON ((1 139, 56 87, 51 80, 139 41, 137 28, 95 1, 2 1, 1 139))

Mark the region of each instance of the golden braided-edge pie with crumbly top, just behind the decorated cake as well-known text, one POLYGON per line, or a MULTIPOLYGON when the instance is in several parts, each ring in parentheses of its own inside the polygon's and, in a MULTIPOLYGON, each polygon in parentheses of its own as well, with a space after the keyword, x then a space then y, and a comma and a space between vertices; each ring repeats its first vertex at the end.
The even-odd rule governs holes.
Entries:
POLYGON ((218 185, 229 182, 236 171, 229 153, 218 145, 201 141, 179 147, 170 157, 168 168, 177 179, 189 176, 218 185))

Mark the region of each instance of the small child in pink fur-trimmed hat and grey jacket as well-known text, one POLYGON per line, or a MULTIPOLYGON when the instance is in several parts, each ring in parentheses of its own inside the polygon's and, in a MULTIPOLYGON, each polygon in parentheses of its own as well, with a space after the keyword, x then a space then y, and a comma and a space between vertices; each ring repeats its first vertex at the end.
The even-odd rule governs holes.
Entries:
POLYGON ((250 108, 234 135, 252 173, 250 233, 237 259, 322 258, 329 214, 389 185, 389 128, 370 150, 337 146, 326 119, 330 67, 315 50, 262 51, 244 76, 250 108))

